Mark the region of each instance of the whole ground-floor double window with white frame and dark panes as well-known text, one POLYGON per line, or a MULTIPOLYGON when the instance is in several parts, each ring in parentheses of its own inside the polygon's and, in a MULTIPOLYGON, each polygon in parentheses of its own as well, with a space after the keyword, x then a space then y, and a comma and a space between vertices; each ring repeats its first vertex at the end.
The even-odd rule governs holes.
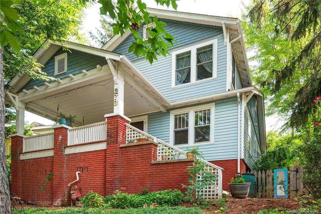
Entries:
POLYGON ((170 111, 170 143, 175 146, 213 143, 214 105, 170 111))

